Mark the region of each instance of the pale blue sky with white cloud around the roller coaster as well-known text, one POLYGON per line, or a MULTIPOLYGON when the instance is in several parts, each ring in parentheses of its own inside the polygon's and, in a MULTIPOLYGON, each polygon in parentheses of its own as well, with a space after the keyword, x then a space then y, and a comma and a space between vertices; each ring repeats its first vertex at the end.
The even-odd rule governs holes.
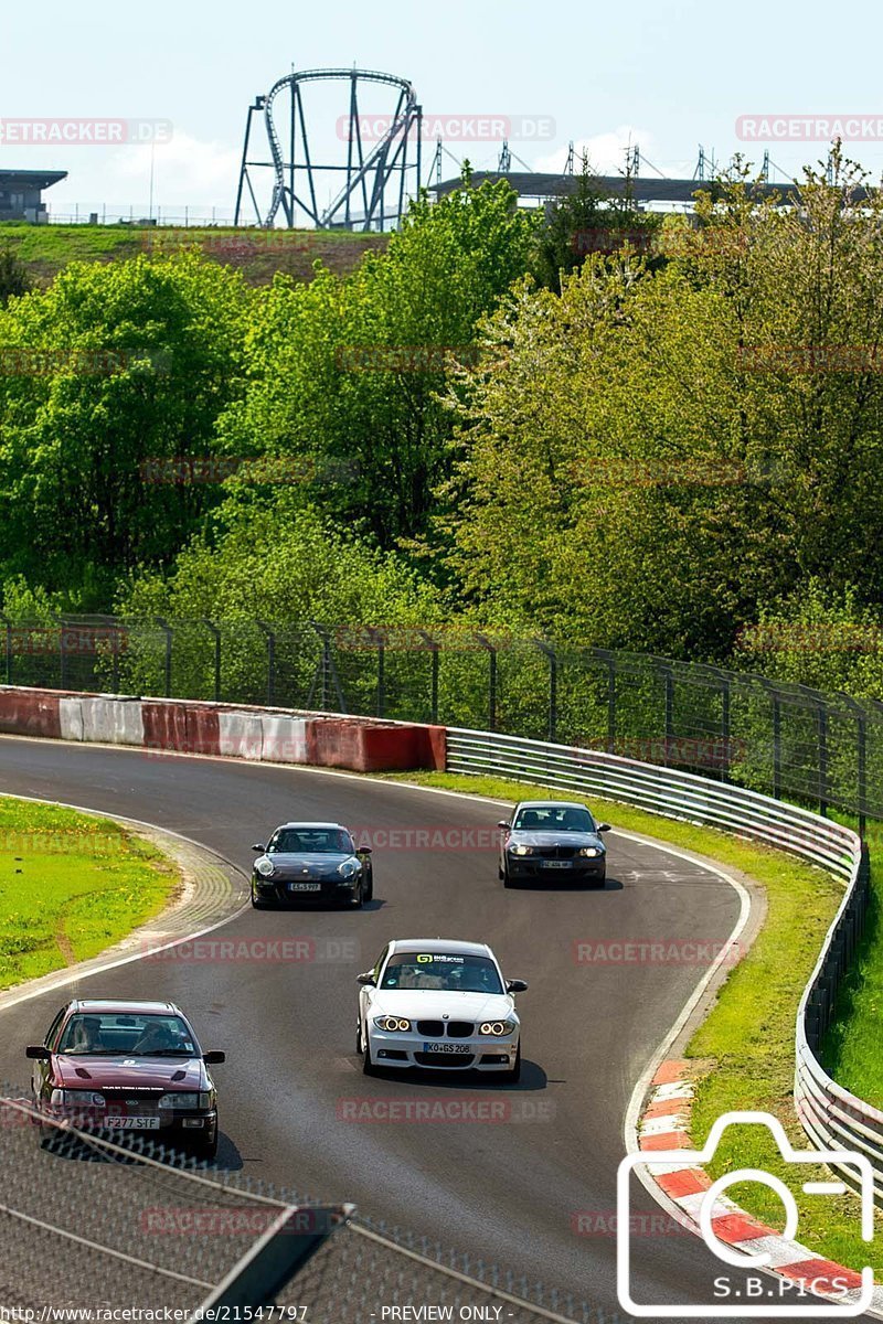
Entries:
MULTIPOLYGON (((256 94, 293 66, 357 65, 409 79, 426 117, 445 117, 454 135, 487 135, 469 147, 446 138, 447 150, 469 155, 475 168, 496 167, 498 126, 475 127, 496 120, 510 131, 516 126, 511 151, 535 169, 560 169, 573 140, 598 172, 621 169, 631 144, 642 175, 654 173, 653 163, 690 177, 702 143, 719 163, 736 151, 760 163, 768 148, 782 171, 773 177, 784 177, 823 159, 826 127, 849 119, 846 132, 858 138, 846 142, 847 154, 876 177, 882 28, 870 0, 837 12, 815 0, 42 0, 38 9, 11 5, 4 13, 0 169, 66 169, 69 179, 46 193, 56 213, 106 207, 147 214, 152 171, 154 211, 214 208, 218 218, 229 217, 256 94), (20 140, 28 134, 23 120, 85 119, 156 123, 158 142, 20 140)), ((347 110, 346 87, 316 91, 316 159, 343 160, 338 117, 347 110)), ((433 146, 424 148, 425 168, 433 146)), ((445 177, 455 173, 446 158, 445 177)))

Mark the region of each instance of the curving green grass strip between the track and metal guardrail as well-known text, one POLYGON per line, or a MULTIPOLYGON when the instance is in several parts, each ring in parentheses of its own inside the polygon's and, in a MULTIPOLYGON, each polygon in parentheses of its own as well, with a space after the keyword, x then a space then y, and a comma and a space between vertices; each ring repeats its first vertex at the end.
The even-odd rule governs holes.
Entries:
MULTIPOLYGON (((395 780, 511 802, 531 794, 549 794, 551 789, 451 773, 405 773, 395 775, 395 780)), ((585 798, 559 789, 555 789, 555 796, 563 800, 585 798)), ((691 1137, 699 1148, 721 1113, 760 1110, 780 1119, 794 1148, 808 1148, 809 1141, 794 1115, 794 1026, 804 988, 842 900, 842 887, 821 869, 711 828, 695 828, 655 817, 630 805, 593 797, 590 804, 596 814, 608 818, 614 828, 643 833, 708 855, 724 866, 741 870, 763 886, 768 904, 764 927, 751 952, 729 973, 718 1001, 686 1049, 684 1055, 694 1062, 698 1076, 691 1137)), ((874 989, 868 990, 867 1001, 862 1005, 859 1029, 867 1027, 867 1035, 855 1042, 853 1051, 857 1062, 864 1061, 862 1042, 880 1042, 879 1017, 874 1018, 872 997, 878 997, 883 1005, 882 964, 878 961, 874 967, 874 989)), ((879 1062, 874 1067, 864 1062, 864 1070, 880 1079, 879 1062)), ((846 1079, 843 1083, 854 1088, 846 1079)), ((851 1268, 868 1263, 878 1279, 883 1275, 883 1215, 876 1215, 876 1241, 868 1246, 859 1237, 857 1197, 847 1194, 833 1200, 830 1196, 806 1196, 800 1189, 802 1181, 813 1177, 823 1180, 823 1170, 801 1170, 800 1182, 796 1182, 793 1168, 782 1162, 769 1133, 753 1127, 725 1132, 718 1158, 708 1170, 714 1177, 720 1177, 735 1168, 761 1168, 785 1181, 800 1210, 798 1239, 814 1253, 851 1268)), ((782 1230, 781 1204, 768 1188, 757 1184, 733 1186, 728 1194, 748 1213, 770 1227, 782 1230)))

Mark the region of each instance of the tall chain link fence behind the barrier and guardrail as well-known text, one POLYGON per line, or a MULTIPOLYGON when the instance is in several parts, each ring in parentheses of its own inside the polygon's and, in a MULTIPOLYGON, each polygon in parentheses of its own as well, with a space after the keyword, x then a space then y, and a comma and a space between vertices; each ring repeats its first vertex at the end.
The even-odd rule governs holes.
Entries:
POLYGON ((883 703, 723 667, 432 626, 0 616, 0 630, 8 685, 465 726, 883 817, 883 703))

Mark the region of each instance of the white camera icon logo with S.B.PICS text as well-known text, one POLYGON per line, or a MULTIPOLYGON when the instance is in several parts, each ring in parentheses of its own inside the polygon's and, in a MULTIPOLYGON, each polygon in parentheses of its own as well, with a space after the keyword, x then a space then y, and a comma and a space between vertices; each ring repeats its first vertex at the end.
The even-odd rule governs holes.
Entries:
MULTIPOLYGON (((849 1290, 846 1284, 837 1287, 837 1279, 830 1284, 826 1282, 823 1292, 815 1290, 814 1283, 805 1284, 800 1280, 784 1280, 764 1274, 769 1270, 772 1255, 768 1250, 740 1250, 718 1237, 715 1231, 715 1218, 720 1217, 718 1201, 729 1186, 744 1182, 759 1182, 773 1190, 782 1202, 785 1210, 785 1227, 782 1237, 793 1241, 798 1231, 797 1201, 785 1182, 773 1173, 761 1168, 737 1168, 733 1172, 719 1177, 702 1197, 698 1215, 690 1215, 698 1222, 702 1239, 708 1250, 721 1263, 733 1272, 732 1278, 716 1278, 715 1284, 720 1286, 723 1299, 703 1304, 667 1304, 635 1301, 631 1294, 631 1245, 629 1219, 629 1188, 633 1172, 638 1178, 651 1177, 654 1169, 661 1173, 675 1172, 682 1168, 699 1168, 714 1158, 720 1137, 727 1127, 732 1125, 763 1125, 772 1133, 782 1158, 796 1168, 796 1180, 800 1181, 800 1165, 846 1168, 857 1177, 860 1193, 860 1234, 862 1241, 874 1239, 874 1170, 864 1155, 851 1149, 794 1149, 790 1144, 781 1121, 768 1112, 725 1112, 718 1117, 712 1125, 708 1140, 702 1149, 642 1149, 637 1153, 626 1155, 617 1172, 617 1295, 620 1305, 638 1319, 854 1319, 863 1315, 874 1300, 874 1270, 864 1266, 860 1272, 860 1288, 849 1290), (715 1207, 718 1206, 718 1211, 715 1207), (745 1276, 748 1275, 748 1276, 745 1276), (830 1296, 827 1301, 815 1305, 804 1304, 806 1296, 830 1296), (788 1300, 790 1298, 790 1300, 788 1300), (739 1304, 733 1303, 739 1299, 739 1304), (749 1304, 753 1300, 757 1304, 749 1304), (776 1304, 782 1300, 786 1304, 776 1304), (727 1301, 727 1304, 724 1304, 727 1301), (839 1303, 839 1304, 838 1304, 839 1303)), ((847 1190, 843 1181, 831 1174, 830 1181, 801 1181, 801 1189, 808 1196, 841 1196, 847 1190)), ((686 1221, 686 1215, 684 1215, 686 1221)))

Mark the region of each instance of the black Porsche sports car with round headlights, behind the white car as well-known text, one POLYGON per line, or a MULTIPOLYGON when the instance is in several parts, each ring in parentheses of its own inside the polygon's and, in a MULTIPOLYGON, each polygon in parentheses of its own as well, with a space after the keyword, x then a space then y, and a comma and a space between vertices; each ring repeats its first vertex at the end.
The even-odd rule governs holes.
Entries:
POLYGON ((252 870, 252 904, 301 902, 359 908, 373 896, 371 849, 340 824, 283 824, 258 851, 252 870))

